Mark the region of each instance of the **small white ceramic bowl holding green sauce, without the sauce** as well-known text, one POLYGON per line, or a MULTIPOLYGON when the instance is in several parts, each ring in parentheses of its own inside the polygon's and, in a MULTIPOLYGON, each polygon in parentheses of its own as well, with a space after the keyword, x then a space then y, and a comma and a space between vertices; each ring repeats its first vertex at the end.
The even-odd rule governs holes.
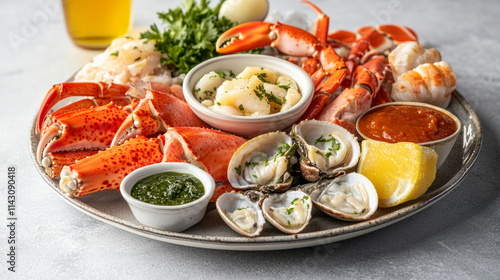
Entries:
POLYGON ((210 174, 192 164, 181 162, 144 166, 127 175, 120 185, 120 193, 127 201, 137 221, 146 226, 175 232, 186 230, 203 219, 214 190, 215 181, 210 174), (142 178, 169 171, 195 176, 203 184, 205 194, 195 201, 172 206, 142 202, 130 195, 132 187, 142 178))

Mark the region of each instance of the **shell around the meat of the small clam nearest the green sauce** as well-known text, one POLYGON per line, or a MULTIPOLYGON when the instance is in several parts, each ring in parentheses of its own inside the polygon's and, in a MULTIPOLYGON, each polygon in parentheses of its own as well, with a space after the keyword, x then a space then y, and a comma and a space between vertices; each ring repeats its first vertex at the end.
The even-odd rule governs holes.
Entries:
POLYGON ((219 196, 219 198, 215 202, 215 206, 222 220, 224 220, 224 222, 230 228, 232 228, 234 231, 236 231, 241 235, 245 235, 248 237, 258 236, 262 232, 264 224, 266 223, 264 215, 262 214, 262 210, 260 209, 259 202, 252 201, 248 196, 242 193, 239 192, 224 193, 221 196, 219 196), (243 230, 229 217, 229 213, 233 213, 237 209, 246 207, 253 208, 257 213, 257 222, 254 224, 253 230, 250 232, 243 230))

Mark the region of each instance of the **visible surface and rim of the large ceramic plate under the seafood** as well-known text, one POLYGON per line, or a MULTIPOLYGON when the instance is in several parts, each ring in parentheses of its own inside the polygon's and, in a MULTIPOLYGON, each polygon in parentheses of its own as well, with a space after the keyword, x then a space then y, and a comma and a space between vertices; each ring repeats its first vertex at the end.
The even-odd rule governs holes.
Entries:
POLYGON ((143 226, 134 218, 119 191, 106 190, 80 198, 68 198, 62 194, 57 181, 49 178, 37 164, 39 137, 34 133, 35 120, 30 128, 29 141, 33 162, 48 187, 62 200, 93 218, 147 238, 185 246, 223 250, 280 250, 321 245, 372 232, 410 217, 456 188, 479 154, 482 132, 476 113, 458 92, 453 92, 448 109, 462 122, 462 132, 449 158, 438 169, 436 180, 422 197, 397 207, 378 209, 373 219, 358 223, 335 220, 313 209, 310 224, 296 235, 283 234, 266 223, 261 236, 242 237, 222 221, 213 203, 200 223, 181 233, 143 226))

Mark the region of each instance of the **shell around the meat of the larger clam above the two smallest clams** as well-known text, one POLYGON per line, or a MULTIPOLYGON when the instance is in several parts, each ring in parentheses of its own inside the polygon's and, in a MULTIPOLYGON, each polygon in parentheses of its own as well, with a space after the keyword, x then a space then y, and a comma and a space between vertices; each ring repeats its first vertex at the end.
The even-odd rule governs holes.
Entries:
POLYGON ((229 183, 233 187, 242 190, 258 189, 263 191, 286 191, 292 183, 292 177, 288 171, 281 174, 281 183, 266 182, 263 184, 257 184, 247 181, 244 176, 245 169, 247 168, 245 163, 250 162, 250 159, 255 156, 256 153, 261 153, 266 155, 268 158, 273 158, 281 143, 286 143, 291 147, 290 152, 285 155, 287 157, 287 162, 290 162, 290 158, 293 156, 295 148, 292 138, 285 132, 271 132, 257 136, 245 142, 233 154, 233 157, 229 162, 227 170, 229 183))

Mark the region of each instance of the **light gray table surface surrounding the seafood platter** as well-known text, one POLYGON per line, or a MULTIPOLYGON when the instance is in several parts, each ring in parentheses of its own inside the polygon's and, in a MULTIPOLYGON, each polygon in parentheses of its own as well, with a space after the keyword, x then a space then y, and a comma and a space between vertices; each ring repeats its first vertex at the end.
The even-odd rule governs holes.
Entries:
MULTIPOLYGON (((181 1, 134 1, 134 28, 181 1)), ((29 127, 45 92, 98 51, 75 47, 56 0, 3 1, 0 9, 1 279, 500 278, 500 2, 313 1, 331 29, 393 22, 413 27, 457 74, 477 111, 482 151, 467 178, 424 211, 387 228, 317 247, 219 251, 151 240, 97 221, 50 190, 29 154, 29 127), (396 9, 394 9, 396 8, 396 9), (17 38, 18 40, 13 40, 17 38), (17 175, 16 272, 7 270, 7 167, 17 175)), ((314 14, 299 1, 272 10, 314 14)))

